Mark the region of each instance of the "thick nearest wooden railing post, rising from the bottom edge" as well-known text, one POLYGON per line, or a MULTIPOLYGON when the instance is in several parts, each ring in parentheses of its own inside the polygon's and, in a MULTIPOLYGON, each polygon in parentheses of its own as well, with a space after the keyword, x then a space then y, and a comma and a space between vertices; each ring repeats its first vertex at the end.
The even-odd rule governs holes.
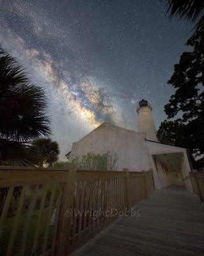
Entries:
MULTIPOLYGON (((72 216, 66 216, 66 211, 73 211, 73 201, 75 196, 75 181, 77 175, 77 164, 69 163, 64 168, 69 168, 66 184, 64 184, 62 192, 61 209, 58 223, 57 234, 57 250, 55 255, 68 255, 69 246, 69 229, 71 225, 72 216)), ((72 214, 70 214, 72 215, 72 214)))

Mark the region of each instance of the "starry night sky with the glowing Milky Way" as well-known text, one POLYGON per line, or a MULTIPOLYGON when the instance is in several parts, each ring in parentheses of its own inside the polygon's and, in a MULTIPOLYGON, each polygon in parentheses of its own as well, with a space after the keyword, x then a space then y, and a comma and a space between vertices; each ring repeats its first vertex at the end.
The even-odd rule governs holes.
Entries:
POLYGON ((103 122, 137 131, 149 100, 156 128, 174 92, 173 65, 194 24, 160 0, 0 0, 0 42, 43 87, 61 160, 103 122))

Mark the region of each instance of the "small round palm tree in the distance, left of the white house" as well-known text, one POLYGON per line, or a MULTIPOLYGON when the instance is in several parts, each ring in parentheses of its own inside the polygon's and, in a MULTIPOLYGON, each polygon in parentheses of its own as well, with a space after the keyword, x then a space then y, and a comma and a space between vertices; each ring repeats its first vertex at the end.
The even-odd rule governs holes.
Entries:
POLYGON ((57 141, 52 141, 50 138, 40 138, 33 141, 31 149, 38 154, 36 163, 40 168, 43 167, 44 163, 52 166, 53 163, 57 162, 60 153, 57 141))

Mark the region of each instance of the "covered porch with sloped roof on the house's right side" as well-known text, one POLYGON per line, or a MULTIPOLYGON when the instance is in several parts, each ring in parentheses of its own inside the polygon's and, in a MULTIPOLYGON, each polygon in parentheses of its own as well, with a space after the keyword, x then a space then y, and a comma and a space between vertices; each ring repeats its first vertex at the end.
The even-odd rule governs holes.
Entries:
POLYGON ((156 141, 146 141, 153 166, 157 189, 171 184, 184 186, 193 191, 189 172, 191 165, 186 148, 173 147, 156 141))

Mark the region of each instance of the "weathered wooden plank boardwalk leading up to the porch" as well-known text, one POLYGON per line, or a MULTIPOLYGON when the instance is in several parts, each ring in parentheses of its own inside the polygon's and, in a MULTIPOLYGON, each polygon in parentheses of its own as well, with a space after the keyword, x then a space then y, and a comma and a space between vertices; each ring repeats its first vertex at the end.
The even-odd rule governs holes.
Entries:
POLYGON ((71 256, 203 256, 204 203, 180 186, 156 190, 71 256))

